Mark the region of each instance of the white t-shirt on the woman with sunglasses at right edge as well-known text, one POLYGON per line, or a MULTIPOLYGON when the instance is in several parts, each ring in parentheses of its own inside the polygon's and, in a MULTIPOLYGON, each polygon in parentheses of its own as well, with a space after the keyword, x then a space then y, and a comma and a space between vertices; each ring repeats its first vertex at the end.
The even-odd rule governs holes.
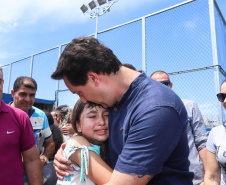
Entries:
POLYGON ((226 184, 226 125, 214 127, 209 134, 206 148, 216 154, 221 167, 221 185, 226 184))

